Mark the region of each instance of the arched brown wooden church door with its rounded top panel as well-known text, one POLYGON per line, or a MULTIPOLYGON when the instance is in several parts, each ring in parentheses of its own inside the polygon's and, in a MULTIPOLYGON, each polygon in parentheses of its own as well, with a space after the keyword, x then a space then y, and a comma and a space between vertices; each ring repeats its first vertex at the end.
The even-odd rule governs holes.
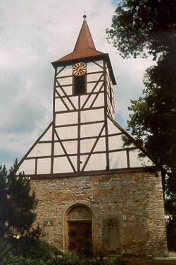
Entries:
POLYGON ((67 249, 83 256, 92 254, 92 213, 87 206, 76 205, 68 211, 67 249))

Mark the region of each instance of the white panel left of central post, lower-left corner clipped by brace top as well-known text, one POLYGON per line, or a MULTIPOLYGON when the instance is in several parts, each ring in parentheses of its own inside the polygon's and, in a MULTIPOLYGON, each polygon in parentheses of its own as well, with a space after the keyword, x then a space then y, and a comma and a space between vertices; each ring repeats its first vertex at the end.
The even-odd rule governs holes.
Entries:
MULTIPOLYGON (((77 126, 56 128, 56 131, 61 140, 77 138, 77 126)), ((54 136, 54 140, 57 140, 57 136, 54 136)))

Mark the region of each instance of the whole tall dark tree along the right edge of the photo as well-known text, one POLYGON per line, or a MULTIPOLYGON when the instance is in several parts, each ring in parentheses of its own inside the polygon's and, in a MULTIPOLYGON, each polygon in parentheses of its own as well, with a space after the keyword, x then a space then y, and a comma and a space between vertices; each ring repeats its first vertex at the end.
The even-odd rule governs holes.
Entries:
POLYGON ((131 100, 128 126, 162 171, 172 246, 176 238, 176 2, 121 0, 106 32, 122 57, 150 54, 156 61, 146 69, 143 96, 131 100))

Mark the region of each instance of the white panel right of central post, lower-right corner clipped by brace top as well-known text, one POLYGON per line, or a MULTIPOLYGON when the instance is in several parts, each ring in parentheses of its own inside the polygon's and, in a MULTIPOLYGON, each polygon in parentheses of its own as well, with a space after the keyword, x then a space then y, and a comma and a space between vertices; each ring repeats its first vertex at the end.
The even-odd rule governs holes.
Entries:
MULTIPOLYGON (((101 131, 102 126, 103 126, 103 122, 99 124, 81 125, 81 129, 80 129, 81 137, 98 136, 101 131)), ((101 135, 105 135, 104 129, 101 135)))

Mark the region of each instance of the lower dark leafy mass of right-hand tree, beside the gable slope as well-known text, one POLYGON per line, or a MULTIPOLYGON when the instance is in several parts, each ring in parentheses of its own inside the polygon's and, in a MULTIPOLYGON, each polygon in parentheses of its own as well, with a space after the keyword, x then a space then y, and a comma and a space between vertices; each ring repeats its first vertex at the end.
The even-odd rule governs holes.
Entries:
POLYGON ((176 69, 167 66, 168 58, 146 70, 143 97, 131 100, 129 110, 132 134, 150 151, 158 167, 175 167, 176 160, 176 69), (173 74, 175 71, 175 74, 173 74))

